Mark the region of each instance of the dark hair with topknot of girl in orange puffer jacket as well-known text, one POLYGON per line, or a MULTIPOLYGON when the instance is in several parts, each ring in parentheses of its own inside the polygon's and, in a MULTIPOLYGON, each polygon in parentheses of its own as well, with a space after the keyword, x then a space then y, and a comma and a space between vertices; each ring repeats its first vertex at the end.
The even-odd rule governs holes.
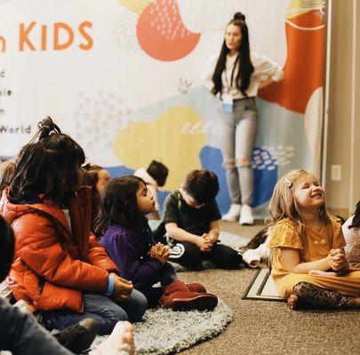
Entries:
POLYGON ((13 203, 33 201, 37 194, 64 205, 78 185, 78 169, 85 156, 81 146, 46 117, 27 146, 21 149, 9 187, 13 203), (37 138, 37 141, 36 141, 37 138))

